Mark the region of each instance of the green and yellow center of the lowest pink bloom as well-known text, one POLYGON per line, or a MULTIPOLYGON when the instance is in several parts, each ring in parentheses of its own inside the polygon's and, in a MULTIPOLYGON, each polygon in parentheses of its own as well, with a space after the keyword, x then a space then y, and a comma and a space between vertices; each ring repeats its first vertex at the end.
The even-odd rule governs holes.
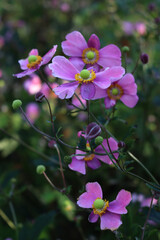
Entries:
POLYGON ((106 212, 108 207, 109 207, 109 201, 107 201, 106 199, 102 200, 101 198, 97 198, 92 205, 94 214, 98 214, 100 217, 106 212), (102 201, 103 201, 103 204, 102 204, 102 201))

